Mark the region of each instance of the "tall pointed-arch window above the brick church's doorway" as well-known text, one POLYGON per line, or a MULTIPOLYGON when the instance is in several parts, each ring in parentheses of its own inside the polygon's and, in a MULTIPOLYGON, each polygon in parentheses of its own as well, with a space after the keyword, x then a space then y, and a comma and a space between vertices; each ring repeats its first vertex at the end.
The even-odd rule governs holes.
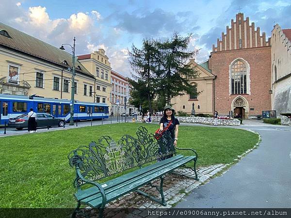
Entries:
POLYGON ((241 61, 236 61, 230 67, 231 70, 231 94, 246 94, 246 66, 241 61))

